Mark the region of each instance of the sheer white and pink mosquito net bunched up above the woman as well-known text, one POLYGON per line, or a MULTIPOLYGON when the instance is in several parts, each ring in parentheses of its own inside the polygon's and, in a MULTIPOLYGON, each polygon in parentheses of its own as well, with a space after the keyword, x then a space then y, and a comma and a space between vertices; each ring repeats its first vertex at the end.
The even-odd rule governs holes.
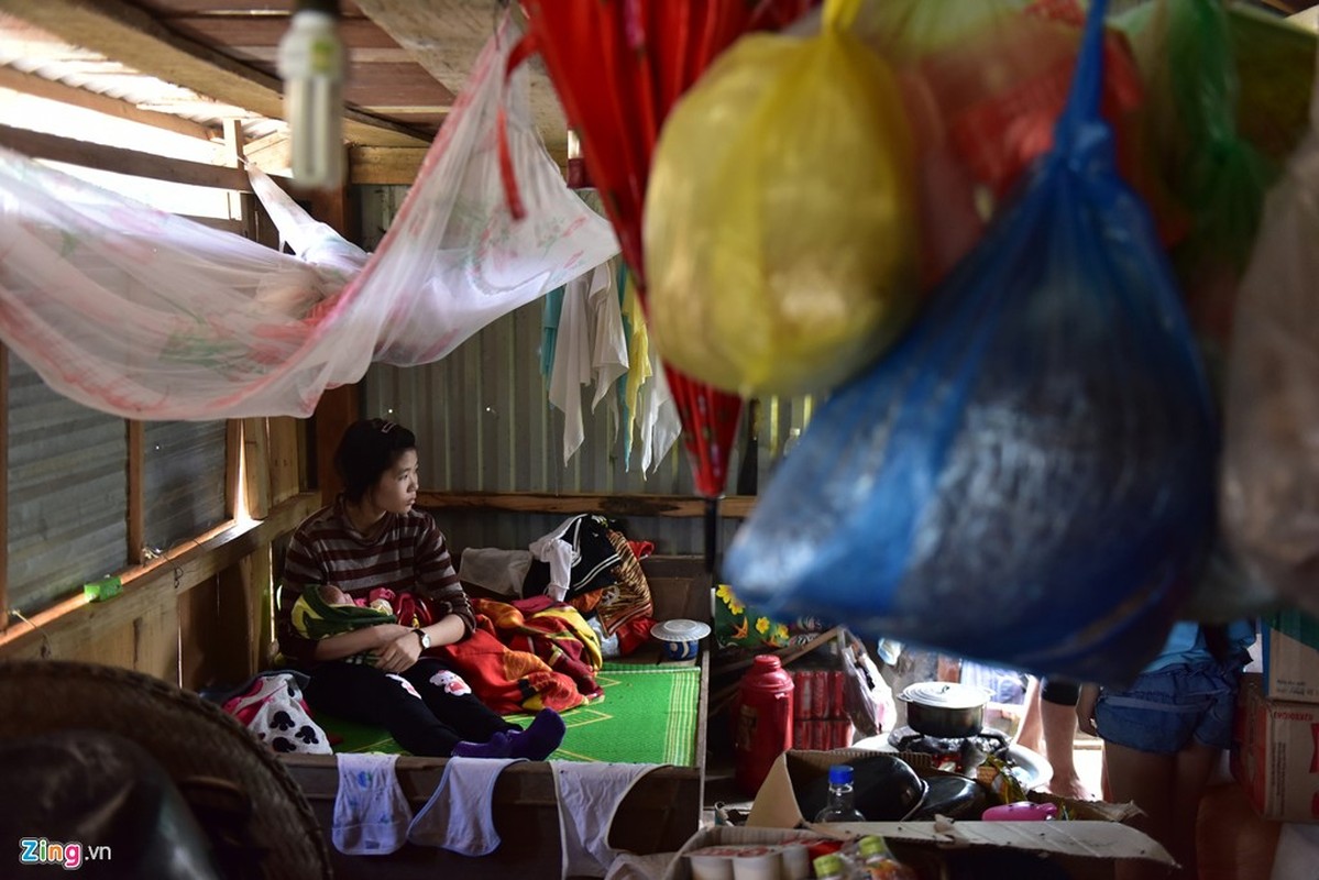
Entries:
POLYGON ((0 339, 57 392, 138 420, 309 416, 372 360, 439 360, 619 249, 545 152, 526 74, 505 80, 516 40, 505 20, 369 257, 256 170, 298 256, 0 149, 0 339))

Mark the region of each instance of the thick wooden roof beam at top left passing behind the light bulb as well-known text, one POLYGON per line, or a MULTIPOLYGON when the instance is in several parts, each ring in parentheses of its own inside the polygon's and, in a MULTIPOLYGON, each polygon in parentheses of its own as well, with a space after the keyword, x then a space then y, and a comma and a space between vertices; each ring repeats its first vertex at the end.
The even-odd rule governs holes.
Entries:
MULTIPOLYGON (((123 0, 0 0, 0 12, 144 74, 270 119, 284 119, 284 88, 277 77, 181 37, 123 0)), ((429 142, 418 132, 356 110, 344 112, 344 137, 376 146, 429 142)))

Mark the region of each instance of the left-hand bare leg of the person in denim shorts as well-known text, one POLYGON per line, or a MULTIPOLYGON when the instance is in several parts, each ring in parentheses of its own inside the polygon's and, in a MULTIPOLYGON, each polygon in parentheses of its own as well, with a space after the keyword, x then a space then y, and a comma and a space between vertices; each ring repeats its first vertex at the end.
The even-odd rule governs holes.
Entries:
MULTIPOLYGON (((1173 794, 1178 756, 1140 752, 1116 743, 1104 743, 1104 763, 1108 768, 1113 801, 1117 803, 1133 801, 1141 807, 1145 815, 1137 817, 1132 825, 1171 851, 1173 811, 1177 809, 1173 794)), ((1141 859, 1119 859, 1115 871, 1117 880, 1165 880, 1169 876, 1166 867, 1141 859)), ((1171 876, 1191 879, 1195 875, 1171 876)))

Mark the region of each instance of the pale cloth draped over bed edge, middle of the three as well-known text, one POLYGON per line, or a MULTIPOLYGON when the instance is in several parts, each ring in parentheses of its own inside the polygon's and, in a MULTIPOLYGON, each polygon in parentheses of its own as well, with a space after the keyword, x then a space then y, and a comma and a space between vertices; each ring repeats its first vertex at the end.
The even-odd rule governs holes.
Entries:
POLYGON ((408 840, 460 855, 489 855, 499 848, 495 830, 495 781, 525 757, 451 757, 435 793, 408 829, 408 840))

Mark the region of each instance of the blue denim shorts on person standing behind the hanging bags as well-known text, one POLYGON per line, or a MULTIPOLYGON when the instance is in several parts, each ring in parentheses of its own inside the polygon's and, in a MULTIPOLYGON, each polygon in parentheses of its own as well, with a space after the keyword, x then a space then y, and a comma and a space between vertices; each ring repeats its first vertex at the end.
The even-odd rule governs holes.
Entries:
POLYGON ((1192 739, 1232 744, 1240 664, 1203 661, 1141 674, 1126 690, 1105 687, 1095 705, 1101 739, 1141 752, 1173 755, 1192 739))

